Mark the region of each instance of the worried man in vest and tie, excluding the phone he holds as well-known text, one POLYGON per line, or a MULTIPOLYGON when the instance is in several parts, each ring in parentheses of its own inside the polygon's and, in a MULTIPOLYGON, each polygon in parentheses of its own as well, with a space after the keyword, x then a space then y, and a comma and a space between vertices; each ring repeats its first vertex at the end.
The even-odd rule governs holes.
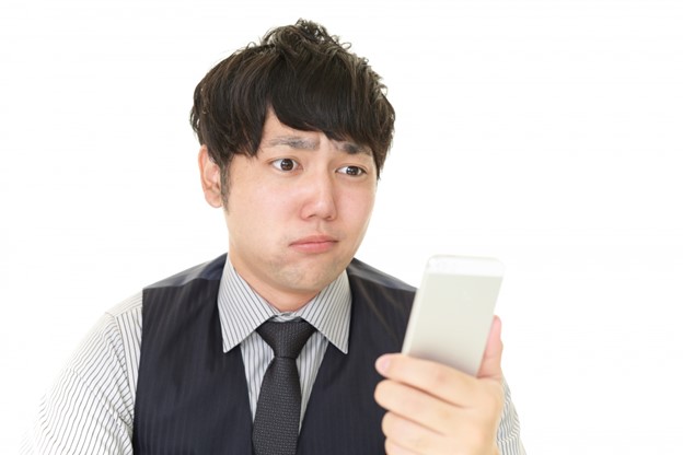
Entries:
POLYGON ((477 377, 391 354, 415 290, 354 259, 394 124, 367 61, 276 28, 209 71, 190 120, 229 253, 107 313, 25 451, 523 453, 498 319, 477 377))

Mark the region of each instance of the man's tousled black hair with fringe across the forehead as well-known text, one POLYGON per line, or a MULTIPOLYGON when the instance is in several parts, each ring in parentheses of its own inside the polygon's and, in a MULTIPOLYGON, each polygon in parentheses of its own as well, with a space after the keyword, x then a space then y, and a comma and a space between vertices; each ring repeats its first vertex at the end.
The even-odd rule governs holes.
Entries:
POLYGON ((190 124, 221 171, 258 152, 266 115, 372 151, 378 177, 394 132, 386 88, 368 60, 305 20, 269 31, 213 67, 195 89, 190 124))

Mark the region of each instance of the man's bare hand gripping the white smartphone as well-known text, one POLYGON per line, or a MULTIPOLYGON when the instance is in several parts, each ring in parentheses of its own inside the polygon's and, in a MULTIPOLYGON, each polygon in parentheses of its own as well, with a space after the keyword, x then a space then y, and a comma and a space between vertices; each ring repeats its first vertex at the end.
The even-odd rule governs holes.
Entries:
POLYGON ((387 411, 382 420, 386 453, 498 454, 501 354, 495 317, 477 377, 403 354, 380 357, 375 368, 386 380, 378 384, 374 399, 387 411))

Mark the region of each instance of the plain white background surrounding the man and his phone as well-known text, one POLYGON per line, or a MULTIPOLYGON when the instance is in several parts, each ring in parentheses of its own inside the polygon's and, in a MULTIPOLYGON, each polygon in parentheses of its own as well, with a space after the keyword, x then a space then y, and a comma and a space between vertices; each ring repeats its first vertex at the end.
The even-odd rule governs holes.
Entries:
POLYGON ((681 453, 678 1, 32 1, 0 7, 0 452, 100 315, 213 258, 194 86, 320 21, 384 77, 394 148, 359 258, 507 265, 530 454, 681 453))

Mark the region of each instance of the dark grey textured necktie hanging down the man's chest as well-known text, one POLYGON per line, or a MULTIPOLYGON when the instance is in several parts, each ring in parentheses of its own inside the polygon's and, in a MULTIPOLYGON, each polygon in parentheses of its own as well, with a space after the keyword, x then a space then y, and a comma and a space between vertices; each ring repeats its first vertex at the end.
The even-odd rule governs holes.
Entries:
POLYGON ((294 455, 301 419, 297 358, 315 328, 305 320, 266 322, 256 329, 273 348, 258 394, 252 442, 256 455, 294 455))

